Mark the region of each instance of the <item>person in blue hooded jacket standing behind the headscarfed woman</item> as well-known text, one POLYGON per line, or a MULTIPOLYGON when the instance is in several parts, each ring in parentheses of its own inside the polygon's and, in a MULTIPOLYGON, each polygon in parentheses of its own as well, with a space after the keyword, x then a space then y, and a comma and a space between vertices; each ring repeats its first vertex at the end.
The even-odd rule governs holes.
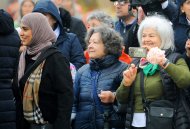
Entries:
POLYGON ((85 57, 82 46, 75 34, 64 31, 61 17, 55 4, 50 0, 38 1, 33 12, 40 12, 46 16, 57 37, 55 45, 63 55, 77 70, 83 66, 85 64, 85 57))

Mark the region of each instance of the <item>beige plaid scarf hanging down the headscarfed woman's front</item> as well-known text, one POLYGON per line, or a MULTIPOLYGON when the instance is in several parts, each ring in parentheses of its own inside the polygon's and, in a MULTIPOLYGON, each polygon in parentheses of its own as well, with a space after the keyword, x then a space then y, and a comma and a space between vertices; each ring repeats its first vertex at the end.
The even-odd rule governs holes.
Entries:
POLYGON ((24 118, 37 124, 44 124, 42 112, 39 108, 39 86, 41 82, 42 70, 45 61, 43 61, 29 76, 25 83, 23 92, 23 113, 24 118))

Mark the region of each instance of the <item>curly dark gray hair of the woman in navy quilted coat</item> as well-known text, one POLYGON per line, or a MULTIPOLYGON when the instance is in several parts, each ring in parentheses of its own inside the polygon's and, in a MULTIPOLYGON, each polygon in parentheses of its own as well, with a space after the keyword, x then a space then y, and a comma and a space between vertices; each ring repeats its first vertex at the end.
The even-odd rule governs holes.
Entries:
POLYGON ((107 26, 99 26, 91 28, 86 35, 86 43, 89 43, 90 37, 94 33, 99 33, 101 40, 105 46, 106 55, 114 55, 119 57, 122 53, 123 38, 114 29, 107 26))

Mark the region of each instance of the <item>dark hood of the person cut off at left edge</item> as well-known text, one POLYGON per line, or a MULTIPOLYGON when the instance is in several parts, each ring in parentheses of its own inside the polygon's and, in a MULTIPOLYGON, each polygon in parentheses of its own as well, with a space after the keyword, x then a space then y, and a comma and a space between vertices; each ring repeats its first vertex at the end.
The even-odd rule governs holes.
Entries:
POLYGON ((14 32, 14 30, 14 21, 12 17, 3 9, 0 9, 0 34, 7 35, 14 32))

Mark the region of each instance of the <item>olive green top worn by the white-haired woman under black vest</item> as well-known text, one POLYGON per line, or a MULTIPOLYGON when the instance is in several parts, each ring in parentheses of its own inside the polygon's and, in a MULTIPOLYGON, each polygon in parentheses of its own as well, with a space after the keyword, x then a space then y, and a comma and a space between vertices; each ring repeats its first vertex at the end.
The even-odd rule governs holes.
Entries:
MULTIPOLYGON (((190 86, 190 71, 184 59, 179 59, 176 64, 170 63, 165 71, 171 76, 172 80, 179 88, 190 86)), ((142 97, 140 91, 140 73, 137 74, 134 82, 134 112, 141 113, 143 111, 142 97)), ((163 96, 163 84, 160 72, 157 71, 152 76, 144 77, 145 96, 148 100, 156 100, 163 96)), ((130 87, 126 87, 121 83, 116 91, 116 98, 119 103, 126 104, 130 87)))

